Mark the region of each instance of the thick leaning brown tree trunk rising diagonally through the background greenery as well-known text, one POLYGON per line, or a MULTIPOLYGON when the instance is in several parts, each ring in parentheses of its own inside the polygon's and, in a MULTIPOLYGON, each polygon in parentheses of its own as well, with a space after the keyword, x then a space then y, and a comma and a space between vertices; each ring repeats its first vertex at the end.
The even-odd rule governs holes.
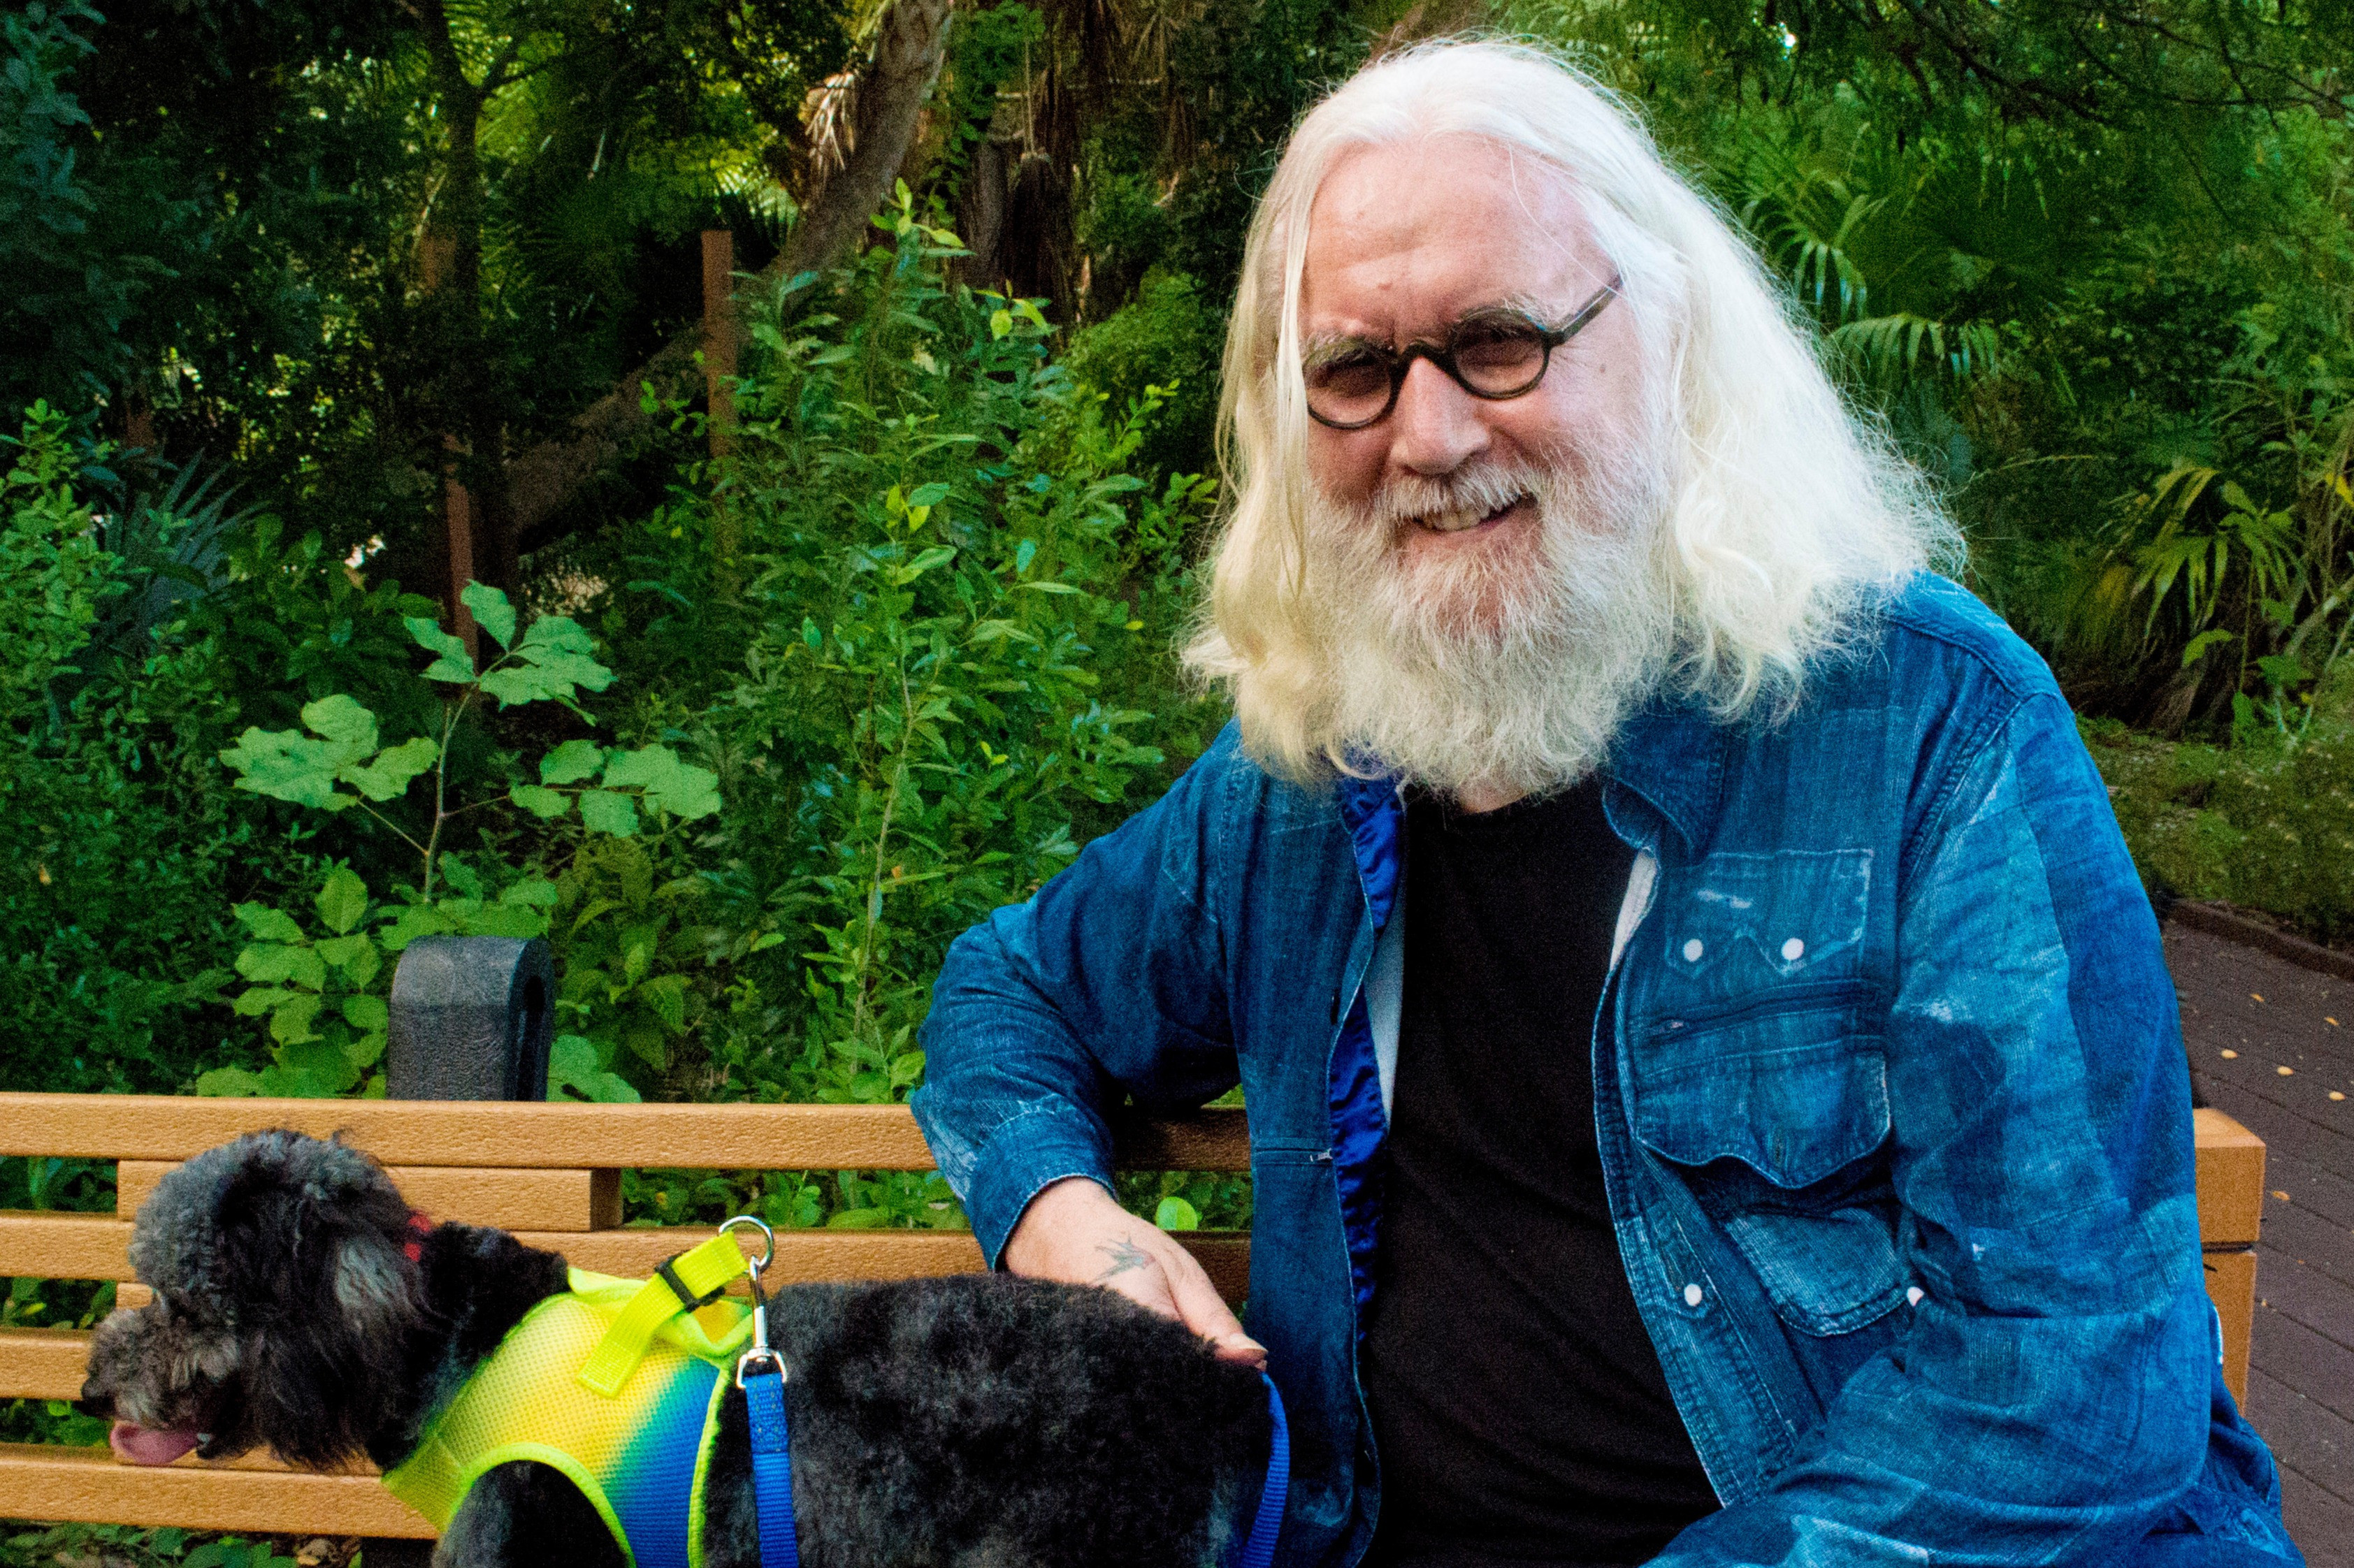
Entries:
MULTIPOLYGON (((916 139, 916 115, 932 94, 949 38, 949 0, 892 0, 876 38, 876 57, 859 80, 857 146, 847 162, 800 210, 800 221, 784 250, 739 299, 758 294, 779 278, 826 268, 843 259, 866 233, 883 198, 899 177, 899 162, 916 139)), ((534 549, 560 537, 574 523, 574 506, 593 480, 631 445, 654 433, 645 414, 645 391, 661 403, 683 403, 701 391, 694 353, 704 330, 683 332, 661 353, 621 377, 621 384, 591 403, 565 436, 520 452, 504 473, 508 539, 534 549)))

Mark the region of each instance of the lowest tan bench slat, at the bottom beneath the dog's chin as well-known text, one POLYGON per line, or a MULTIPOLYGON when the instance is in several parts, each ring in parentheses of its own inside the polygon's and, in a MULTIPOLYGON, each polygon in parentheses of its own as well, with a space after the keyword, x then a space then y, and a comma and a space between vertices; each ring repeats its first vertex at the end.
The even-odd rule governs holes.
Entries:
POLYGON ((115 1464, 104 1448, 0 1443, 0 1497, 16 1519, 433 1540, 433 1526, 374 1476, 308 1476, 195 1460, 148 1469, 115 1464))

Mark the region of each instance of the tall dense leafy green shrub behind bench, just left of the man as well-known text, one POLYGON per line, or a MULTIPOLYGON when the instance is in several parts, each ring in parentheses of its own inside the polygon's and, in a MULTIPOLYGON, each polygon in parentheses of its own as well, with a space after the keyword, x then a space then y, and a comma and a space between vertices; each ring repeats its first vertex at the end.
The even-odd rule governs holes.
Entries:
POLYGON ((1205 739, 1161 697, 1205 497, 1123 471, 1158 398, 1106 417, 1045 363, 1033 306, 949 290, 904 207, 892 238, 753 320, 720 485, 758 574, 701 723, 742 758, 737 918, 800 961, 749 965, 798 1036, 732 1048, 763 1097, 902 1099, 946 942, 1165 777, 1161 737, 1205 739))

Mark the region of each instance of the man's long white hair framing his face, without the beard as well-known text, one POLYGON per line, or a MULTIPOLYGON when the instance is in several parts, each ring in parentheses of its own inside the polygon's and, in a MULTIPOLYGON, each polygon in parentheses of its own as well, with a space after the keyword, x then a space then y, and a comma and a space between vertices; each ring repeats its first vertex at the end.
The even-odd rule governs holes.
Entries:
MULTIPOLYGON (((1660 657, 1643 683, 1723 720, 1784 711, 1857 610, 1959 551, 1959 534, 1888 438, 1846 407, 1749 245, 1636 118, 1551 54, 1490 40, 1368 66, 1299 122, 1276 167, 1226 334, 1219 457, 1236 501, 1186 664, 1231 687, 1245 749, 1285 777, 1363 770, 1363 751, 1379 753, 1363 732, 1372 704, 1346 699, 1351 650, 1316 603, 1332 584, 1314 570, 1325 501, 1306 461, 1299 285, 1309 207, 1339 155, 1448 134, 1558 170, 1624 280, 1660 469, 1643 579, 1664 603, 1650 607, 1660 657)), ((1601 718, 1580 720, 1589 735, 1570 746, 1570 772, 1591 765, 1608 739, 1591 730, 1615 727, 1634 697, 1615 692, 1601 718)))

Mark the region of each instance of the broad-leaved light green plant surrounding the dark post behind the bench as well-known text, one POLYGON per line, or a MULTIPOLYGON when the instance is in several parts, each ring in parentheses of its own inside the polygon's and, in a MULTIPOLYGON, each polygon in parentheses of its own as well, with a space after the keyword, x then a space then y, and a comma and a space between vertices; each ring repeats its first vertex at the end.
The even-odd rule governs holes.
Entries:
POLYGON ((271 1019, 273 1064, 259 1074, 212 1069, 195 1081, 200 1095, 355 1088, 381 1095, 384 1076, 367 1074, 384 1055, 386 956, 433 935, 558 939, 558 1010, 570 1029, 551 1067, 551 1097, 636 1099, 636 1088, 614 1071, 621 1048, 640 1069, 659 1074, 671 1064, 669 1041, 690 1026, 690 982, 673 968, 687 956, 678 951, 669 909, 680 888, 692 892, 699 883, 664 885, 657 906, 647 850, 629 841, 640 826, 659 838, 713 817, 718 777, 664 744, 607 749, 574 737, 539 758, 537 782, 527 782, 520 758, 501 753, 506 789, 461 803, 450 772, 452 742, 480 699, 494 699, 499 713, 548 702, 586 720, 579 692, 612 685, 579 622, 548 614, 518 631, 516 607, 497 589, 468 584, 461 598, 480 633, 504 650, 480 671, 459 636, 431 617, 403 619, 410 638, 433 655, 417 678, 445 687, 433 735, 386 744, 377 716, 337 692, 304 704, 304 730, 247 727, 221 751, 240 789, 322 812, 360 808, 419 862, 417 883, 395 885, 386 906, 372 904, 358 873, 334 866, 315 897, 320 937, 282 909, 238 904, 252 937, 238 954, 238 975, 252 984, 233 1010, 271 1019), (419 779, 428 779, 431 800, 410 808, 419 779), (520 857, 492 841, 478 866, 443 848, 450 824, 485 808, 534 829, 520 857), (541 876, 539 866, 567 836, 577 841, 572 866, 560 878, 541 876))

